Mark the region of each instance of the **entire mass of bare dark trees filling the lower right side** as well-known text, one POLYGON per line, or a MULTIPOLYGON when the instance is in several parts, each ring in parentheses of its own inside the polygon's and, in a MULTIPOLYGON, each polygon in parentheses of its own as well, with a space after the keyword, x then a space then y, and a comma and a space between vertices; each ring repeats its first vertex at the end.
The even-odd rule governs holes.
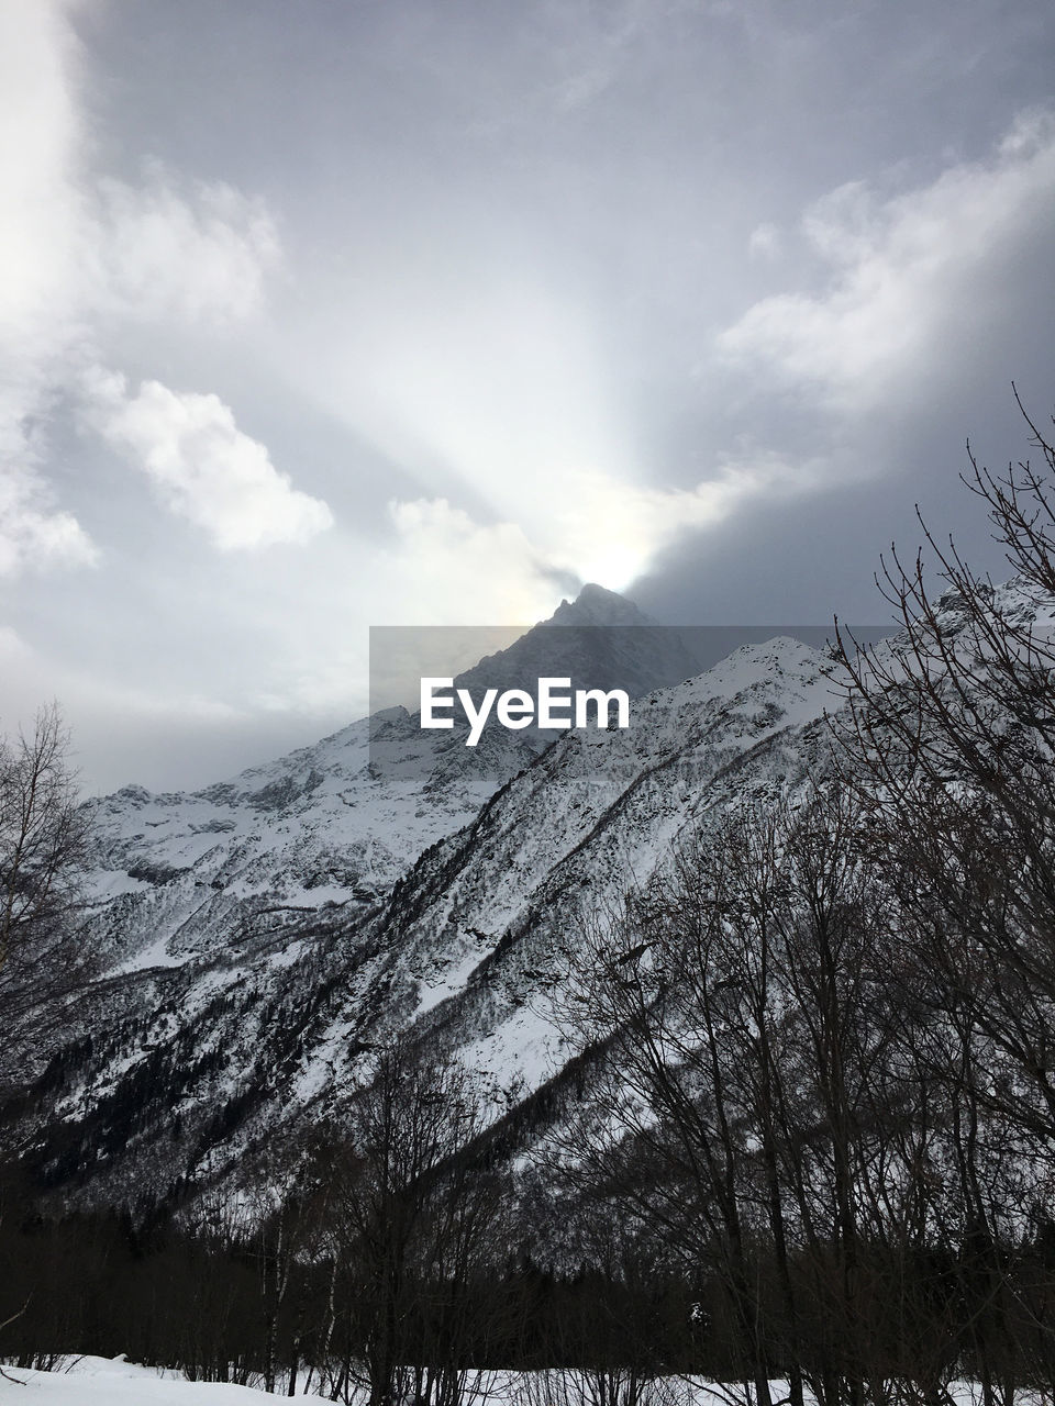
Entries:
POLYGON ((596 922, 605 1077, 564 1174, 703 1286, 771 1406, 1055 1391, 1055 450, 972 460, 1016 579, 883 567, 805 794, 744 801, 596 922))

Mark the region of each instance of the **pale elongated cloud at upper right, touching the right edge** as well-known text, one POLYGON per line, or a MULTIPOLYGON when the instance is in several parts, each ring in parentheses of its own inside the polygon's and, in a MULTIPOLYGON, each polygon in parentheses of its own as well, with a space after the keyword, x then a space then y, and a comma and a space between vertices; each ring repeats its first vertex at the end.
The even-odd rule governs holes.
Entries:
POLYGON ((881 200, 852 181, 812 205, 802 235, 826 270, 820 294, 764 298, 720 333, 717 356, 867 409, 917 374, 950 319, 979 323, 979 291, 1017 242, 1051 226, 1055 117, 1021 117, 990 159, 881 200))

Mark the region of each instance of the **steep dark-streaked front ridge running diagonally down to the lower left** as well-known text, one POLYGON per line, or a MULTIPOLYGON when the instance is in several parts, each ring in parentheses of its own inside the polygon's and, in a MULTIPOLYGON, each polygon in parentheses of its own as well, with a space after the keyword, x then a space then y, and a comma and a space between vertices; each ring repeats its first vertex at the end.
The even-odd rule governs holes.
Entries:
POLYGON ((563 735, 384 901, 286 910, 179 965, 127 963, 42 1091, 46 1174, 76 1187, 90 1167, 89 1199, 131 1205, 245 1175, 301 1119, 339 1118, 363 1052, 405 1028, 453 1042, 495 1112, 513 1107, 561 1063, 547 993, 582 910, 647 880, 746 789, 800 785, 831 704, 817 651, 741 650, 639 700, 626 731, 563 735))

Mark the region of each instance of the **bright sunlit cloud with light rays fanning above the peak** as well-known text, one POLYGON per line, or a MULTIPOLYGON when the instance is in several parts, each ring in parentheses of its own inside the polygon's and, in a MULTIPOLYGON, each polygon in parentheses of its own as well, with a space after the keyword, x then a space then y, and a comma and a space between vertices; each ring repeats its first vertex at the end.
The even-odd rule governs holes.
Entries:
MULTIPOLYGON (((750 446, 715 456, 692 486, 643 482, 633 419, 582 309, 528 278, 477 284, 454 305, 404 280, 401 301, 342 326, 331 353, 336 413, 408 477, 449 467, 452 486, 397 505, 394 522, 414 540, 401 560, 435 560, 445 582, 461 581, 463 616, 477 595, 466 562, 481 564, 480 579, 516 582, 513 599, 536 599, 539 582, 551 599, 554 575, 625 589, 685 531, 776 482, 803 482, 805 471, 796 479, 750 446)), ((428 582, 419 600, 436 603, 428 582)))

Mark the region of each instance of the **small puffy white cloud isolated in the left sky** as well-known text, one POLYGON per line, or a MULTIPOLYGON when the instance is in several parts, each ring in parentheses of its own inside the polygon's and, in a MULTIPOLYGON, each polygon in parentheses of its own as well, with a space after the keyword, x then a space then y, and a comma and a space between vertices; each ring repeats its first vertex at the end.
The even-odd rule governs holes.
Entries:
POLYGON ((84 378, 87 422, 153 482, 165 505, 222 551, 304 543, 333 522, 326 503, 293 488, 217 395, 176 392, 96 370, 84 378))

